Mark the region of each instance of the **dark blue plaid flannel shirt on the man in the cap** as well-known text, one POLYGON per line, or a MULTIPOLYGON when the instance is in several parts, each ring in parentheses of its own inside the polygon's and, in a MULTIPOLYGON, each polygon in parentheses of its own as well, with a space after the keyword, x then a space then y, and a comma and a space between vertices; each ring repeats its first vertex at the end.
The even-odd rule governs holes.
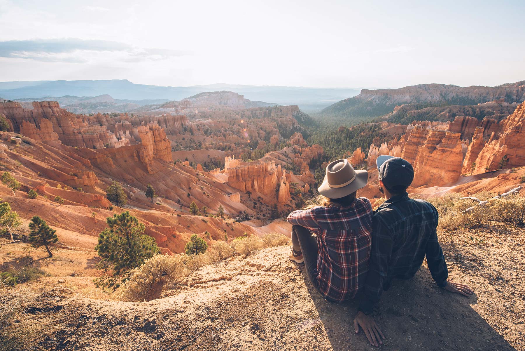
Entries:
POLYGON ((447 285, 447 264, 437 240, 438 213, 424 200, 408 194, 385 201, 374 212, 370 265, 359 310, 370 314, 393 278, 408 279, 427 258, 438 286, 447 285))

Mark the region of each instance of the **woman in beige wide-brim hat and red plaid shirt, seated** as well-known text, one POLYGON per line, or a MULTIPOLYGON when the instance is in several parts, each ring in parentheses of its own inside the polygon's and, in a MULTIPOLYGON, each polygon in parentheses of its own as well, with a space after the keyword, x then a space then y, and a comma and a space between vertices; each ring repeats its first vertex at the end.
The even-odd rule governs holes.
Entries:
POLYGON ((328 164, 317 204, 288 215, 290 260, 304 263, 314 288, 331 302, 353 298, 364 284, 372 240, 372 204, 356 198, 368 172, 346 159, 328 164), (315 234, 315 235, 313 235, 315 234))

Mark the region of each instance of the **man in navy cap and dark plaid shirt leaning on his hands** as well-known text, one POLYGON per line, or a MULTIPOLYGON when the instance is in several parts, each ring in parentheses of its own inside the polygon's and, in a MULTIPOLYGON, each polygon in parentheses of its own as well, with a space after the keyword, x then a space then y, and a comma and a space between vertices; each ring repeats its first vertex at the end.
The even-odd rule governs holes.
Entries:
POLYGON ((384 338, 371 315, 374 304, 394 278, 413 277, 425 256, 438 286, 465 296, 473 293, 468 286, 447 279, 447 264, 437 240, 437 210, 424 200, 409 198, 406 192, 414 180, 412 165, 400 157, 380 156, 377 169, 386 201, 374 212, 370 266, 354 318, 355 333, 361 327, 374 346, 384 338))

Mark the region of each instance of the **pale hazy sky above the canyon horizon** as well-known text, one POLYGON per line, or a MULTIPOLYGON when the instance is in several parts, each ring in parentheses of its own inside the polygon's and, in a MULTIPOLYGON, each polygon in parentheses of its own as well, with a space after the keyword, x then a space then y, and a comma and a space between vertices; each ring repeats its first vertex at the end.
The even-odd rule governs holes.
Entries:
POLYGON ((0 0, 0 81, 307 87, 525 79, 525 1, 0 0))

